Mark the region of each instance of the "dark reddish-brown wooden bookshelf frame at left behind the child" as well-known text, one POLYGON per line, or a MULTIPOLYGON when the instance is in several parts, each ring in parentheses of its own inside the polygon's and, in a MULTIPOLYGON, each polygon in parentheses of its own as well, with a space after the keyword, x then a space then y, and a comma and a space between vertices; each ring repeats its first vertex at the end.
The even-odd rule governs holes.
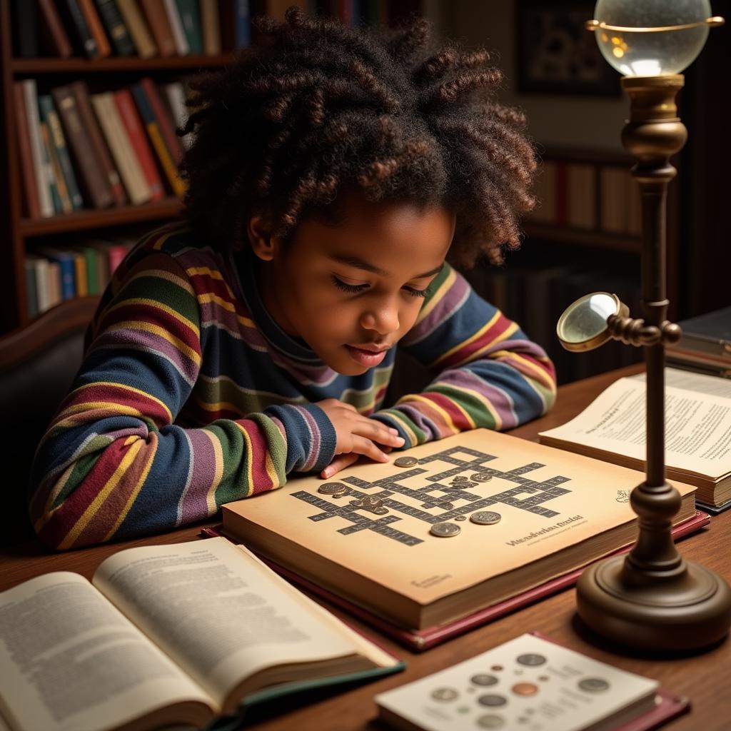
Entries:
MULTIPOLYGON (((75 1, 73 0, 73 2, 75 1)), ((219 52, 211 53, 210 55, 202 55, 201 53, 186 55, 183 52, 184 49, 181 49, 178 45, 179 34, 175 38, 175 44, 177 45, 176 52, 172 54, 163 53, 163 45, 158 36, 159 31, 156 31, 153 18, 148 10, 148 2, 151 1, 126 0, 126 5, 134 4, 137 7, 140 18, 143 18, 143 24, 147 26, 149 37, 153 39, 160 53, 146 58, 141 58, 137 55, 116 55, 115 51, 121 50, 118 45, 115 45, 115 42, 112 41, 112 36, 107 32, 107 40, 110 40, 110 50, 112 50, 112 53, 106 55, 102 52, 102 44, 99 42, 100 39, 97 35, 96 50, 99 51, 99 54, 95 58, 87 58, 83 50, 85 47, 80 42, 80 38, 75 37, 78 29, 75 26, 73 13, 69 10, 73 4, 72 0, 32 0, 32 6, 31 0, 0 0, 0 135, 2 137, 2 151, 0 153, 0 216, 5 221, 4 236, 0 238, 0 257, 3 264, 0 266, 0 333, 27 325, 36 316, 36 309, 42 310, 50 304, 51 300, 48 299, 45 300, 45 303, 41 303, 40 300, 34 300, 34 287, 36 285, 34 284, 32 273, 26 272, 26 258, 29 254, 36 254, 40 251, 40 256, 45 257, 47 255, 43 253, 45 249, 56 249, 56 252, 59 249, 64 249, 66 246, 72 246, 78 249, 78 242, 88 240, 89 237, 101 236, 102 238, 106 238, 108 236, 110 239, 119 238, 124 232, 132 232, 134 227, 143 227, 147 223, 150 226, 156 225, 159 222, 174 219, 181 213, 181 187, 175 186, 173 181, 170 180, 170 177, 166 177, 167 170, 165 170, 165 166, 162 163, 162 157, 159 155, 155 156, 158 150, 155 148, 154 143, 152 143, 151 138, 143 140, 143 143, 146 142, 151 147, 153 157, 151 158, 150 165, 151 167, 156 167, 156 173, 158 173, 162 187, 165 189, 164 196, 157 197, 159 196, 158 187, 158 192, 153 200, 139 202, 137 205, 130 202, 134 196, 129 189, 124 177, 124 171, 122 170, 124 157, 121 158, 118 154, 115 154, 115 150, 111 144, 113 142, 112 132, 105 127, 102 118, 101 102, 97 106, 96 102, 99 100, 94 99, 95 96, 114 96, 115 99, 113 102, 110 101, 110 104, 113 103, 116 105, 118 115, 124 116, 121 102, 116 99, 117 95, 115 92, 132 92, 132 96, 129 97, 132 105, 132 113, 135 116, 140 115, 140 121, 143 124, 140 128, 140 134, 142 137, 145 137, 145 118, 140 101, 135 96, 133 86, 140 83, 146 77, 155 86, 162 87, 166 83, 180 80, 181 77, 190 77, 197 72, 216 69, 230 64, 235 58, 235 48, 241 48, 243 45, 246 45, 246 41, 242 39, 248 39, 250 37, 251 26, 249 25, 249 20, 254 15, 267 13, 281 19, 284 15, 284 9, 290 4, 295 4, 300 5, 300 7, 303 7, 311 14, 317 12, 320 15, 330 15, 340 18, 343 22, 355 23, 368 20, 369 23, 393 24, 413 12, 418 12, 421 7, 420 0, 368 0, 362 7, 357 5, 354 0, 205 0, 205 3, 209 6, 209 11, 210 6, 217 9, 216 17, 219 18, 220 25, 219 31, 216 31, 219 34, 219 52), (42 8, 44 3, 56 8, 58 19, 61 25, 64 26, 64 31, 69 37, 65 57, 61 57, 64 54, 61 53, 61 46, 57 37, 53 38, 53 31, 50 29, 48 20, 48 11, 42 8), (35 9, 32 12, 28 10, 31 7, 35 9), (356 17, 356 8, 360 8, 359 12, 363 17, 356 17), (249 12, 249 18, 246 18, 246 13, 243 11, 249 12), (45 30, 45 41, 43 40, 42 34, 38 32, 36 34, 37 42, 35 44, 32 42, 29 44, 27 40, 29 37, 29 26, 26 25, 25 29, 23 29, 23 26, 19 22, 20 16, 26 12, 31 12, 31 15, 35 16, 35 23, 31 23, 31 27, 37 24, 37 31, 40 32, 42 30, 42 24, 45 23, 43 28, 45 30), (242 17, 246 19, 241 21, 242 17), (244 25, 242 25, 242 22, 244 25), (36 55, 32 52, 29 55, 27 50, 29 47, 38 48, 39 54, 44 55, 36 55), (26 50, 18 52, 18 48, 25 48, 26 50), (68 52, 71 48, 73 53, 69 56, 68 52), (46 55, 48 53, 54 53, 56 55, 48 56, 46 55), (55 106, 56 112, 58 113, 64 135, 67 137, 66 143, 68 145, 69 160, 71 161, 69 164, 76 175, 77 182, 79 183, 78 187, 83 191, 84 201, 82 208, 74 205, 72 210, 67 205, 64 209, 66 212, 59 213, 60 207, 58 205, 58 195, 56 195, 58 190, 54 192, 53 184, 49 183, 51 188, 50 194, 54 198, 53 206, 49 210, 48 196, 46 196, 45 208, 43 205, 40 206, 42 211, 45 211, 45 216, 42 213, 31 216, 29 213, 29 208, 31 210, 33 208, 29 203, 29 189, 33 186, 29 185, 28 180, 33 177, 42 179, 44 173, 38 173, 36 166, 36 170, 33 171, 35 175, 33 172, 29 175, 27 173, 29 170, 28 143, 26 142, 25 153, 23 153, 22 149, 19 149, 22 148, 22 144, 19 140, 18 130, 23 129, 23 125, 20 124, 18 118, 20 117, 22 121, 23 115, 17 113, 15 106, 18 106, 19 94, 23 94, 23 92, 19 92, 18 86, 20 85, 18 82, 28 80, 32 80, 34 83, 34 96, 36 94, 35 90, 37 89, 36 98, 38 102, 36 106, 41 106, 42 95, 48 96, 50 94, 53 96, 53 106, 55 106), (110 205, 108 202, 102 205, 96 200, 92 200, 94 198, 93 186, 89 183, 88 175, 85 177, 83 174, 83 165, 80 164, 78 159, 78 148, 73 148, 73 145, 69 143, 70 133, 67 129, 68 123, 64 119, 63 113, 61 113, 61 102, 56 97, 55 91, 58 88, 72 86, 77 81, 82 81, 86 88, 88 88, 88 99, 93 102, 92 106, 94 107, 91 114, 96 116, 99 131, 102 133, 99 139, 102 140, 101 144, 106 149, 107 157, 110 158, 113 167, 116 167, 119 177, 122 178, 121 182, 124 183, 124 186, 120 185, 119 181, 117 183, 120 190, 124 189, 124 192, 121 193, 122 199, 126 197, 126 201, 124 202, 118 196, 115 196, 117 200, 113 205, 110 205), (107 94, 106 92, 113 92, 113 94, 107 94), (136 113, 135 105, 137 107, 136 113), (23 154, 25 154, 24 158, 23 154), (23 174, 24 172, 26 175, 23 174), (97 207, 92 207, 93 203, 97 203, 97 207), (53 211, 53 215, 49 215, 51 211, 53 211), (34 303, 36 301, 37 307, 29 304, 29 302, 34 303)), ((83 4, 84 2, 82 0, 79 7, 82 7, 83 4)), ((121 7, 121 0, 115 0, 113 3, 107 0, 107 4, 115 5, 119 9, 121 7)), ((86 5, 87 7, 96 8, 100 20, 105 21, 99 25, 97 30, 102 29, 103 32, 106 29, 108 31, 110 26, 106 24, 108 18, 101 11, 102 1, 93 0, 91 3, 87 2, 86 5)), ((170 10, 172 5, 175 4, 159 3, 159 8, 161 12, 167 13, 167 19, 170 21, 170 29, 173 30, 173 36, 175 36, 175 22, 173 21, 173 16, 170 15, 173 12, 170 10), (163 7, 166 9, 162 10, 163 7)), ((190 7, 190 4, 187 5, 190 7)), ((200 26, 198 27, 198 31, 200 31, 199 41, 202 39, 202 45, 199 42, 197 48, 199 50, 210 51, 210 46, 207 47, 205 45, 205 28, 203 28, 204 5, 197 0, 194 5, 198 8, 197 20, 200 22, 200 26)), ((183 4, 178 3, 178 12, 183 13, 182 7, 183 4)), ((86 20, 89 21, 89 11, 83 10, 81 12, 86 15, 86 20)), ((94 10, 91 12, 94 12, 94 10)), ((132 33, 132 26, 127 22, 128 16, 125 15, 122 20, 126 24, 129 35, 136 41, 135 34, 132 33)), ((91 34, 94 35, 93 24, 88 22, 87 26, 91 34)), ((180 28, 181 26, 178 26, 178 29, 180 28)), ((190 36, 188 36, 188 39, 191 39, 190 36)), ((137 48, 140 49, 142 46, 137 44, 137 48)), ((192 42, 189 48, 194 48, 192 42)), ((88 48, 86 48, 86 51, 88 52, 88 48)), ((26 100, 27 98, 26 96, 26 100)), ((28 108, 28 104, 29 102, 26 101, 26 109, 28 108)), ((29 127, 31 123, 32 120, 26 122, 25 126, 29 127)), ((108 121, 107 124, 109 124, 108 121)), ((65 171, 61 170, 60 167, 60 154, 56 154, 55 160, 50 160, 53 156, 53 140, 49 141, 52 135, 50 131, 50 119, 48 120, 48 124, 46 124, 42 109, 41 124, 39 125, 36 120, 35 125, 37 128, 38 126, 40 128, 44 126, 48 128, 41 130, 42 134, 46 135, 45 143, 44 141, 40 143, 42 156, 48 153, 45 166, 50 168, 52 164, 55 164, 56 179, 58 180, 58 175, 61 175, 61 178, 63 178, 64 176, 61 173, 65 171)), ((88 131, 88 126, 85 129, 86 131, 88 131)), ((140 150, 134 145, 129 126, 127 126, 127 132, 129 133, 129 143, 132 143, 132 147, 135 148, 135 153, 139 153, 140 150)), ((34 132, 31 131, 28 134, 32 137, 34 132)), ((31 139, 31 148, 35 144, 37 143, 31 139)), ((89 155, 93 154, 91 151, 93 151, 95 143, 91 139, 91 135, 83 141, 82 145, 89 148, 89 155)), ((99 162, 99 143, 96 143, 96 145, 96 158, 97 162, 99 162)), ((128 149, 132 151, 132 148, 128 149)), ((172 152, 170 145, 168 145, 168 150, 172 152)), ((144 167, 143 160, 139 154, 135 154, 135 157, 137 157, 137 163, 140 164, 141 170, 144 167)), ((33 159, 37 161, 41 158, 34 156, 33 159)), ((43 164, 40 167, 43 167, 43 164)), ((108 166, 107 170, 109 170, 108 166)), ((102 182, 106 185, 105 181, 107 176, 105 170, 101 172, 105 178, 102 182)), ((50 178, 53 178, 53 173, 49 174, 48 170, 46 174, 47 179, 50 180, 50 178)), ((67 193, 71 192, 70 187, 68 186, 67 193)), ((39 182, 36 186, 37 192, 39 192, 39 189, 44 189, 42 182, 39 182)), ((42 192, 45 196, 48 190, 44 189, 42 192)), ((78 200, 77 198, 77 202, 78 200)), ((110 199, 107 197, 108 200, 110 199)), ((41 201, 42 203, 43 201, 41 201)), ((35 208, 37 210, 38 202, 35 202, 35 208)), ((83 244, 83 246, 88 246, 88 243, 83 244)), ((38 257, 31 258, 34 259, 34 263, 32 265, 29 264, 29 268, 31 266, 37 266, 38 257)), ((53 274, 53 277, 58 279, 56 273, 53 274)), ((78 277, 79 270, 77 269, 76 279, 78 277)), ((91 274, 89 277, 91 278, 91 274)), ((62 276, 61 279, 61 289, 63 289, 62 276)), ((91 282, 91 279, 89 281, 91 282)), ((103 287, 103 280, 101 278, 99 279, 99 283, 103 287)), ((89 285, 89 292, 92 293, 91 284, 89 285)), ((77 292, 77 296, 80 295, 83 295, 83 292, 77 292)), ((69 293, 62 292, 61 296, 64 298, 62 299, 62 304, 67 303, 68 300, 65 297, 68 297, 69 293)), ((56 287, 54 298, 53 301, 58 299, 58 287, 56 287)))

